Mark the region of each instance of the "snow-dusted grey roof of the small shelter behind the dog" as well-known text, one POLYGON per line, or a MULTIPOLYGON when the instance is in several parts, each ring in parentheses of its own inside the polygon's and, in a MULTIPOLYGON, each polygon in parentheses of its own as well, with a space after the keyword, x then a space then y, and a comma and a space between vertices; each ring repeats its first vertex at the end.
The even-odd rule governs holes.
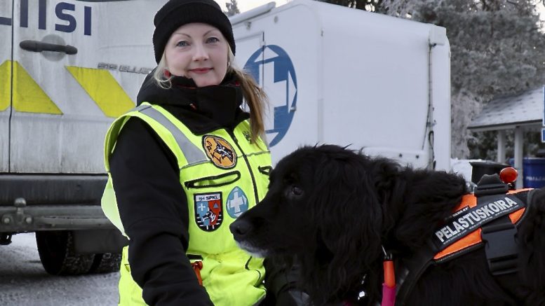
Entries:
POLYGON ((474 131, 504 130, 515 126, 541 127, 544 116, 544 88, 496 97, 471 120, 474 131))

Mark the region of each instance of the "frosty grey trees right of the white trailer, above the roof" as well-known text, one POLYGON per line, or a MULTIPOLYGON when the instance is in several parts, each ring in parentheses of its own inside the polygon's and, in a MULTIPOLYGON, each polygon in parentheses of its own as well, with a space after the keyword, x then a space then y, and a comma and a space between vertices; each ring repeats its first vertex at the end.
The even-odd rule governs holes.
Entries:
POLYGON ((485 137, 466 130, 495 95, 520 92, 545 83, 545 34, 532 0, 425 0, 411 17, 447 29, 451 50, 452 155, 478 155, 485 137))

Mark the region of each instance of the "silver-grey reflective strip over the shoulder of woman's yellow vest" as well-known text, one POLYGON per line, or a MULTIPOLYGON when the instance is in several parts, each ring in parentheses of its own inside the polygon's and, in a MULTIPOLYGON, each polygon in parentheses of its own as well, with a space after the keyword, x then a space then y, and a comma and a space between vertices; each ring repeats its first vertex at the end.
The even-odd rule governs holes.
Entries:
POLYGON ((176 140, 178 146, 182 149, 184 156, 189 163, 189 165, 196 162, 202 162, 203 160, 208 160, 206 155, 201 149, 197 148, 187 137, 184 135, 179 128, 177 128, 168 118, 166 118, 160 111, 157 111, 150 105, 142 104, 135 108, 135 111, 139 111, 146 116, 156 120, 158 123, 163 125, 171 134, 173 134, 174 139, 176 140))

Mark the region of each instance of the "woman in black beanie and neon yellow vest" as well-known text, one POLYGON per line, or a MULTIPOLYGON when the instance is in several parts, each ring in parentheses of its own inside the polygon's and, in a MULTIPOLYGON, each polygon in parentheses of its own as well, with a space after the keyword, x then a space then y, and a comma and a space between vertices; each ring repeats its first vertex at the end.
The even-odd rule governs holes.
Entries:
POLYGON ((158 66, 105 145, 102 207, 130 239, 120 305, 257 305, 262 259, 238 249, 229 224, 267 191, 264 92, 234 67, 215 1, 170 0, 154 25, 158 66))

